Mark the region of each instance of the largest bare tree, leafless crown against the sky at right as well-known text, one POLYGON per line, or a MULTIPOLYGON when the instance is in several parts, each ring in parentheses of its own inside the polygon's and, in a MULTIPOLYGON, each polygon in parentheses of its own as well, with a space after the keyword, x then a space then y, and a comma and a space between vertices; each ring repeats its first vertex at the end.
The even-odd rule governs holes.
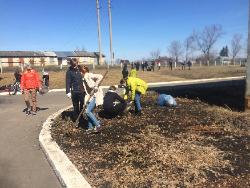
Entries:
POLYGON ((206 26, 202 32, 194 32, 197 47, 203 52, 206 59, 210 60, 210 52, 214 44, 223 35, 223 30, 220 25, 206 26))

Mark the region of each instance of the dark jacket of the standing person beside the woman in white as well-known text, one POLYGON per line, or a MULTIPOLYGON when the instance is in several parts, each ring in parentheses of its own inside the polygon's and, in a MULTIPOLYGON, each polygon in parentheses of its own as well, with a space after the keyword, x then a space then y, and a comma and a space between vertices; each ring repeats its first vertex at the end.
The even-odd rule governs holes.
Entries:
POLYGON ((66 73, 66 93, 81 93, 84 91, 82 75, 78 69, 70 67, 66 73))

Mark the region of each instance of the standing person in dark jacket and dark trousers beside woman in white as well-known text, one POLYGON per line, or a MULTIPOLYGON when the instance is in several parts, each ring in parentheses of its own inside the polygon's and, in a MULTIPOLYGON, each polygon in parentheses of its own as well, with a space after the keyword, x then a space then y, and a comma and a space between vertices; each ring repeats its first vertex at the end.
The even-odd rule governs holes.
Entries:
POLYGON ((74 118, 76 118, 83 108, 85 91, 77 59, 70 59, 69 63, 70 67, 66 73, 66 95, 72 99, 74 118))

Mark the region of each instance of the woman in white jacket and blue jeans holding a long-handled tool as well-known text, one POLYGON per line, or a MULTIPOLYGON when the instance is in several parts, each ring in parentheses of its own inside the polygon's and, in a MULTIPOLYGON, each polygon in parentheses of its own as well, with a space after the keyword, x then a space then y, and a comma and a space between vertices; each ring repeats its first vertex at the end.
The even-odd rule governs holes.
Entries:
POLYGON ((93 110, 95 106, 103 104, 103 93, 102 90, 98 88, 98 84, 103 76, 101 74, 90 73, 86 66, 81 66, 80 71, 83 75, 83 85, 86 92, 85 102, 90 98, 86 108, 86 115, 88 117, 87 131, 95 130, 96 132, 99 132, 101 130, 101 124, 95 117, 93 110), (93 96, 90 96, 92 90, 94 90, 95 93, 93 96))

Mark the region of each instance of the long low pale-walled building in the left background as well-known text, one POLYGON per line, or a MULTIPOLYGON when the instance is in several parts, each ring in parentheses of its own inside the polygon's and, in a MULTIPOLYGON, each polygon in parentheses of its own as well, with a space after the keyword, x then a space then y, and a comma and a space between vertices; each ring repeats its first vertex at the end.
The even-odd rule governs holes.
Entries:
MULTIPOLYGON (((68 58, 77 58, 80 64, 93 64, 99 62, 99 53, 86 51, 0 51, 2 67, 22 66, 25 63, 33 66, 66 66, 68 58)), ((105 56, 103 55, 104 63, 105 56)))

